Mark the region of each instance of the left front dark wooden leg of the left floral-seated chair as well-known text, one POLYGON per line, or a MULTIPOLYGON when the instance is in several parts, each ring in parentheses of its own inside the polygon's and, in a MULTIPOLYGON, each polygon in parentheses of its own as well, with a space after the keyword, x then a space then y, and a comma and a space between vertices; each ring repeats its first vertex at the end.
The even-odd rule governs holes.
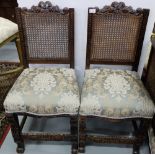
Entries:
POLYGON ((17 114, 6 114, 6 117, 11 125, 11 132, 14 142, 17 144, 17 153, 24 153, 24 141, 21 136, 21 130, 19 126, 17 114))

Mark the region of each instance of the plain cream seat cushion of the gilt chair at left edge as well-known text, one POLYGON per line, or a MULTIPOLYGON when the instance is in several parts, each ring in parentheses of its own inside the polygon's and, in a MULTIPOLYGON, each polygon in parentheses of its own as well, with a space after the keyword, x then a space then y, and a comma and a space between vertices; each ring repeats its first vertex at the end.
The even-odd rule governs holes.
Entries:
POLYGON ((18 32, 17 24, 0 17, 0 43, 18 32))

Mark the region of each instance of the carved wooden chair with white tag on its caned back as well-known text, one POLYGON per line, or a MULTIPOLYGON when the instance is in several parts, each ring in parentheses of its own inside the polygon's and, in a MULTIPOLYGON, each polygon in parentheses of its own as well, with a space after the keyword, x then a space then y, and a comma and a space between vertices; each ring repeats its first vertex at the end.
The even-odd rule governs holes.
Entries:
POLYGON ((123 2, 88 9, 87 70, 79 112, 80 152, 85 152, 88 143, 117 143, 131 144, 133 153, 139 153, 154 114, 154 104, 137 74, 148 15, 149 10, 133 10, 123 2), (132 71, 89 69, 101 64, 129 65, 132 71), (87 122, 93 119, 104 128, 107 121, 111 122, 112 129, 88 128, 87 122), (117 131, 122 122, 133 126, 127 135, 126 131, 117 131))

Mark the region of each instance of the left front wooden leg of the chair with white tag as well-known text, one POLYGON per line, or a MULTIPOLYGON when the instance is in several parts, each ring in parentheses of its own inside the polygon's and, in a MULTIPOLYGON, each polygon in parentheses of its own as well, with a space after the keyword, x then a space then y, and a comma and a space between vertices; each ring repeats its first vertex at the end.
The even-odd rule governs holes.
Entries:
POLYGON ((79 152, 85 153, 85 143, 86 143, 86 117, 80 116, 79 121, 79 152))

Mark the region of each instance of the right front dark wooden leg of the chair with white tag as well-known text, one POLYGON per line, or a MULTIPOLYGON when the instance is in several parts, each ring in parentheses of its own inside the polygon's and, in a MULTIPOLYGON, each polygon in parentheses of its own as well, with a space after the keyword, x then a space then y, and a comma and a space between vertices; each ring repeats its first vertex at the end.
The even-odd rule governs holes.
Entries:
POLYGON ((137 138, 137 142, 133 144, 133 154, 140 153, 140 146, 143 144, 144 139, 147 135, 147 131, 149 128, 150 121, 149 120, 141 120, 140 125, 138 126, 136 121, 133 121, 134 125, 134 134, 137 138))

